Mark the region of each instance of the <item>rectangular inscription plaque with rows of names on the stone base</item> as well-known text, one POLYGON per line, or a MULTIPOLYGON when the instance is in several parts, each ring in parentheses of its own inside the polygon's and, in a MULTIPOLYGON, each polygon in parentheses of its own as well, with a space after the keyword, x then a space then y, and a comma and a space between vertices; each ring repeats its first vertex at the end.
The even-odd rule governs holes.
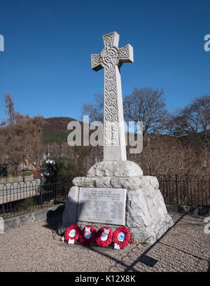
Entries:
POLYGON ((78 221, 125 226, 127 189, 80 188, 78 221))

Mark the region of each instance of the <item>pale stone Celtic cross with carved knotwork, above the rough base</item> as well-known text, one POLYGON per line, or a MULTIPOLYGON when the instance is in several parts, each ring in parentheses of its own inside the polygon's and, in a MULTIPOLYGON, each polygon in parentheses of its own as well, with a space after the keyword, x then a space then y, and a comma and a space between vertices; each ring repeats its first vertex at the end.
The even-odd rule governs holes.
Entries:
POLYGON ((94 71, 104 67, 104 161, 127 160, 120 67, 134 59, 130 44, 118 48, 119 37, 117 32, 104 35, 102 53, 91 55, 94 71))

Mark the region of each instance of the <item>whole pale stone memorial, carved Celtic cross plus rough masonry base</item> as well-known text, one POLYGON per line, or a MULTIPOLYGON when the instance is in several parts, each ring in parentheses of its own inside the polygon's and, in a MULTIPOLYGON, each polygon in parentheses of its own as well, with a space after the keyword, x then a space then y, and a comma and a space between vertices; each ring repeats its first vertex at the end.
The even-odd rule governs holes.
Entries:
MULTIPOLYGON (((98 71, 104 67, 104 161, 94 164, 87 177, 73 179, 75 186, 69 191, 62 216, 62 231, 70 224, 81 227, 89 224, 88 221, 78 220, 80 188, 92 188, 93 191, 102 188, 125 189, 125 226, 130 229, 133 240, 152 245, 174 222, 167 213, 158 179, 144 176, 139 165, 127 161, 120 67, 123 62, 133 62, 133 48, 130 44, 118 48, 119 35, 116 32, 104 35, 103 39, 105 48, 100 55, 92 55, 92 69, 98 71)), ((99 199, 95 199, 95 205, 99 199)), ((79 209, 88 212, 88 204, 87 198, 79 209)), ((104 205, 102 213, 106 212, 109 214, 109 207, 104 205)), ((92 210, 91 214, 94 213, 92 210)), ((97 217, 94 219, 94 226, 98 229, 108 225, 114 231, 121 226, 107 224, 106 216, 104 224, 97 222, 97 217)))

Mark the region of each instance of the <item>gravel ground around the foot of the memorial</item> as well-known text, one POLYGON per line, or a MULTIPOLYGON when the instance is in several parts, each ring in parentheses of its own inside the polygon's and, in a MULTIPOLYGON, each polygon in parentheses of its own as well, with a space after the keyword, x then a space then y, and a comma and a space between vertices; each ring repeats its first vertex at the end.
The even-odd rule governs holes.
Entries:
POLYGON ((210 234, 204 217, 172 214, 175 226, 152 247, 68 245, 55 235, 59 217, 0 235, 0 271, 210 271, 210 234), (55 236, 55 239, 53 238, 55 236))

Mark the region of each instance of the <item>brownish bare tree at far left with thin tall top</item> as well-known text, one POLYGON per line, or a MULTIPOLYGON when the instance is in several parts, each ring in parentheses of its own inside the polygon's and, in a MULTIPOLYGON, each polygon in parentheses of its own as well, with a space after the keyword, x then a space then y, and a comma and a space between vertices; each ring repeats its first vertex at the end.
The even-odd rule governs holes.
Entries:
POLYGON ((4 100, 8 119, 0 125, 0 164, 8 165, 8 172, 18 175, 23 160, 38 168, 43 117, 31 118, 16 112, 9 94, 4 95, 4 100))

